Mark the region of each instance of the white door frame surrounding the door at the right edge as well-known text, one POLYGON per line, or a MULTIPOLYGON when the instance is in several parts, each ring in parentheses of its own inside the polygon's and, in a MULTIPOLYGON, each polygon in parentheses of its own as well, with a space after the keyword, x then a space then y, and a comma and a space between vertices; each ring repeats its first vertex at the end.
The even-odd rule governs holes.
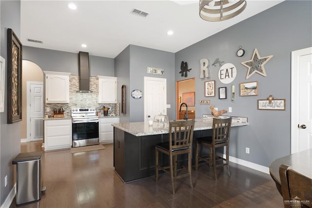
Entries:
POLYGON ((301 56, 308 54, 312 54, 312 47, 292 51, 291 154, 299 152, 299 61, 301 56))

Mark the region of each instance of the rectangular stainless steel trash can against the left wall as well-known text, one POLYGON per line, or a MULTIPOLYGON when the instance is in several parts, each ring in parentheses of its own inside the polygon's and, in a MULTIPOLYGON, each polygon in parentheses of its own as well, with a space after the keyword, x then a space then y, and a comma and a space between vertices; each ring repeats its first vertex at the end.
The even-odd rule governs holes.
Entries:
POLYGON ((43 177, 41 166, 43 161, 43 152, 25 152, 20 153, 12 161, 16 168, 16 204, 38 201, 45 192, 43 187, 43 177))

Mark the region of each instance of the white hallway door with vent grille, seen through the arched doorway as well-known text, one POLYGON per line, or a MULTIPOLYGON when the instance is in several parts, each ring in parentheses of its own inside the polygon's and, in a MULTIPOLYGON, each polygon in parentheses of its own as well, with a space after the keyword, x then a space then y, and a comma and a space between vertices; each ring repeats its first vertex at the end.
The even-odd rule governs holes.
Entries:
POLYGON ((42 140, 43 138, 43 85, 42 83, 30 83, 29 91, 29 121, 30 141, 42 140))

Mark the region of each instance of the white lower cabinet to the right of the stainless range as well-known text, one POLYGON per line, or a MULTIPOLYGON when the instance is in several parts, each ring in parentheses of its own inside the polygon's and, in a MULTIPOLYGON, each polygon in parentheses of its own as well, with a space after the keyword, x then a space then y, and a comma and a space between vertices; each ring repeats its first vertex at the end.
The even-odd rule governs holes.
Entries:
POLYGON ((99 120, 99 142, 102 144, 113 143, 114 127, 112 124, 119 123, 119 118, 101 118, 99 120))

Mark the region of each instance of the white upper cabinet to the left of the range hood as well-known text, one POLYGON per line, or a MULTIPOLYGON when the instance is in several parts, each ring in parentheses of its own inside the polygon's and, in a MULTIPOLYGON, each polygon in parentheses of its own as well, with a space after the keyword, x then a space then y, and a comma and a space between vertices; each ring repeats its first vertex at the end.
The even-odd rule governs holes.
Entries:
POLYGON ((70 73, 44 71, 45 103, 69 103, 70 73))

